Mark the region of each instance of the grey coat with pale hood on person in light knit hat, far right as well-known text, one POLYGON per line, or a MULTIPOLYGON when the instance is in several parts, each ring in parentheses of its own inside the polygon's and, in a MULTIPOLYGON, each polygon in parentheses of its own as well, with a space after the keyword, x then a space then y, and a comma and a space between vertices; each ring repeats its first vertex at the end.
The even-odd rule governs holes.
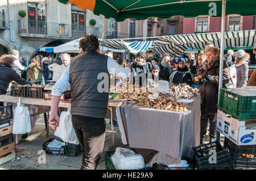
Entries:
POLYGON ((236 62, 237 69, 237 87, 245 87, 248 81, 248 72, 249 72, 249 58, 248 53, 241 58, 240 61, 236 62))

